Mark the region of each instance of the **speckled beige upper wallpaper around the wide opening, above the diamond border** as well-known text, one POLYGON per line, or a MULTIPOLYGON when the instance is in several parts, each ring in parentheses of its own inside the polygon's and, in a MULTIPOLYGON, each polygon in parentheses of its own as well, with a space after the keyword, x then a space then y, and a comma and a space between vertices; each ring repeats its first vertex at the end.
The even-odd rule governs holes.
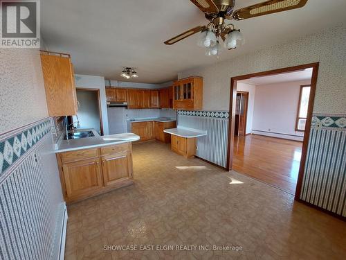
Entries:
POLYGON ((345 26, 326 28, 320 33, 268 46, 262 51, 254 51, 232 60, 182 71, 178 76, 179 78, 193 75, 203 77, 203 110, 228 110, 231 77, 320 62, 313 112, 344 114, 346 112, 345 42, 345 26))

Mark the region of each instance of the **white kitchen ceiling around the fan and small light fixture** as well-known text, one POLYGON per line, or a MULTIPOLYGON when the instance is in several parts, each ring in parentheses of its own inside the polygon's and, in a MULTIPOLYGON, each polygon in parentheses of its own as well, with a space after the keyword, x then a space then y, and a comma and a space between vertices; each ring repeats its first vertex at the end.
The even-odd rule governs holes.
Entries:
MULTIPOLYGON (((261 0, 236 0, 241 8, 261 0)), ((179 71, 231 59, 249 51, 315 33, 345 21, 345 0, 309 0, 301 9, 233 21, 246 43, 207 57, 197 46, 198 35, 172 46, 163 42, 207 24, 189 0, 44 0, 41 1, 43 40, 50 51, 71 53, 76 73, 122 80, 122 67, 136 67, 140 83, 176 79, 179 71)))

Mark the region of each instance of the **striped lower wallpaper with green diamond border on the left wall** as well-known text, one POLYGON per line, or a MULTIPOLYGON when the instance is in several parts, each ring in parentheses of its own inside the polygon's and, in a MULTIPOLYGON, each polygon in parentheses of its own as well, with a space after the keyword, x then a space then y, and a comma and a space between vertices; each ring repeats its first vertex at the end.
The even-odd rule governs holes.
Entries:
POLYGON ((51 120, 0 136, 0 259, 59 259, 64 208, 51 120))

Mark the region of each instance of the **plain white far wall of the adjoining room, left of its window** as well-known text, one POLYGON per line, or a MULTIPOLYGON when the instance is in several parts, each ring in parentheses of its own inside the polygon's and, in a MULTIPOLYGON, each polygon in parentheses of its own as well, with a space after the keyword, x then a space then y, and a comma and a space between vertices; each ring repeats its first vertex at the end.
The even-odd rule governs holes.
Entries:
MULTIPOLYGON (((270 135, 275 132, 284 138, 295 139, 292 135, 303 137, 304 132, 295 131, 298 113, 300 86, 310 84, 310 80, 256 85, 255 110, 253 114, 253 132, 270 135)), ((302 138, 298 138, 302 141, 302 138)))

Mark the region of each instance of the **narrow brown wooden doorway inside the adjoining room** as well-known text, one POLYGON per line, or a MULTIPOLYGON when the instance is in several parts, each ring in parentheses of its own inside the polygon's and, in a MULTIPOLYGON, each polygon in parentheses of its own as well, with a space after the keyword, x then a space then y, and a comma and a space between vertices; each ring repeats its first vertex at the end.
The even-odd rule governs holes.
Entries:
POLYGON ((237 91, 235 107, 235 135, 246 135, 246 120, 248 114, 248 92, 237 91))

